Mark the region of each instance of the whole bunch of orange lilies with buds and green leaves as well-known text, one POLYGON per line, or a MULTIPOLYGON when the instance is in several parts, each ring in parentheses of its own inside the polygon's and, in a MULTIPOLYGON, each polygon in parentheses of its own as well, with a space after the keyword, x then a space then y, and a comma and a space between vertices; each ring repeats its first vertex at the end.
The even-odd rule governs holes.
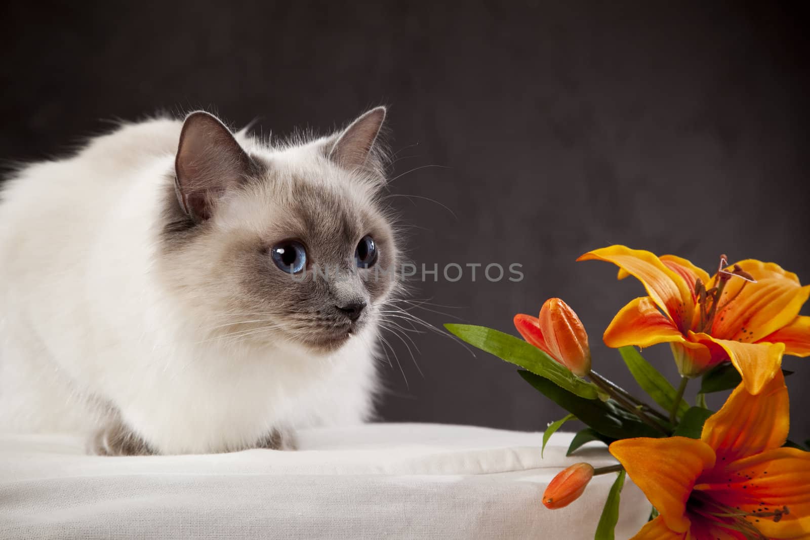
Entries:
POLYGON ((595 538, 613 538, 629 475, 653 505, 634 538, 810 538, 810 452, 787 440, 790 372, 782 371, 782 355, 810 355, 810 317, 799 315, 810 286, 774 263, 728 265, 725 256, 713 276, 683 258, 622 245, 578 260, 612 262, 619 279, 632 275, 644 285, 647 296, 622 308, 603 339, 647 398, 591 368, 586 331, 562 300, 547 300, 539 317, 514 317, 526 341, 482 326, 445 325, 520 366, 523 379, 569 411, 548 426, 543 447, 563 423, 578 419, 587 427, 573 437, 569 455, 601 440, 619 461, 563 470, 549 483, 545 506, 577 500, 595 474, 617 474, 595 531, 595 538), (636 348, 659 343, 671 347, 677 385, 636 348), (689 406, 684 390, 696 379, 697 404, 689 406), (706 406, 706 393, 730 389, 720 410, 706 406))

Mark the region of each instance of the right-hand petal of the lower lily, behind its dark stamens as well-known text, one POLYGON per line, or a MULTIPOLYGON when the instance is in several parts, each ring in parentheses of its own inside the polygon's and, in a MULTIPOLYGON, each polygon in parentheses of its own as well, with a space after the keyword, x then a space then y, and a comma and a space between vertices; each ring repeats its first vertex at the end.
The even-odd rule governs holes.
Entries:
POLYGON ((731 483, 706 490, 714 500, 742 512, 774 512, 787 506, 778 522, 762 516, 753 525, 768 538, 810 537, 810 452, 778 448, 732 462, 724 468, 731 483))

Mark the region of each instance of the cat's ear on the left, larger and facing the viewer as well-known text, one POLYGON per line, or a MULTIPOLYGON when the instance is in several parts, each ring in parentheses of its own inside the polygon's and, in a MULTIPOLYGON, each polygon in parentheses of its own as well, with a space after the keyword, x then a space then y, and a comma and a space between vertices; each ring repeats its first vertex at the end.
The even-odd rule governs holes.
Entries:
POLYGON ((230 130, 203 111, 185 117, 174 160, 177 200, 194 222, 209 219, 217 200, 254 168, 230 130))

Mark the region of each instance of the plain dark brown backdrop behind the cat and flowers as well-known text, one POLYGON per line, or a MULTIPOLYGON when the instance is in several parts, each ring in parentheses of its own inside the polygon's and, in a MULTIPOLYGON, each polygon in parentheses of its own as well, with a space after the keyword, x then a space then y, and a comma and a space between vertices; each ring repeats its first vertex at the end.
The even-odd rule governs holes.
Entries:
MULTIPOLYGON (((287 133, 390 104, 402 174, 390 190, 413 196, 391 201, 418 226, 411 257, 517 261, 526 274, 428 282, 415 296, 506 331, 514 313, 561 296, 590 330, 599 371, 633 388, 599 337, 642 288, 579 254, 624 243, 711 268, 725 252, 810 282, 806 24, 785 6, 6 3, 0 156, 60 155, 105 120, 158 109, 208 108, 233 125, 258 116, 287 133)), ((404 376, 383 369, 383 419, 536 430, 561 416, 509 364, 412 337, 422 374, 399 343, 404 376)), ((667 347, 649 352, 675 375, 667 347)), ((785 364, 800 440, 810 359, 785 364)))

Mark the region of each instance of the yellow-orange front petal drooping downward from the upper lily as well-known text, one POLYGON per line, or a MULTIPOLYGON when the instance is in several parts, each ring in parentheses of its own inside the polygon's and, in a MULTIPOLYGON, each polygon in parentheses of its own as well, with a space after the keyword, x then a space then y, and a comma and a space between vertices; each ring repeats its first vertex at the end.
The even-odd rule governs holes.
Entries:
POLYGON ((785 346, 782 343, 742 343, 729 339, 712 338, 709 334, 689 331, 689 340, 699 342, 718 355, 720 347, 728 355, 731 364, 743 377, 748 393, 756 395, 768 383, 782 365, 785 346))

